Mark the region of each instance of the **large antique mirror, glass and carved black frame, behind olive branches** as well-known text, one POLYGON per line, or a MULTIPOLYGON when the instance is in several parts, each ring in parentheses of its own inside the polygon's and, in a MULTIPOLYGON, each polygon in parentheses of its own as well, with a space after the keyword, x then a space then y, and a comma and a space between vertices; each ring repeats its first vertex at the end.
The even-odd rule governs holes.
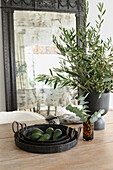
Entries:
MULTIPOLYGON (((58 19, 62 19, 63 26, 73 26, 78 31, 78 27, 84 25, 83 3, 84 0, 33 0, 29 2, 25 0, 1 0, 7 111, 21 109, 26 105, 22 90, 27 89, 29 92, 26 93, 32 96, 34 92, 30 91, 36 89, 37 83, 34 82, 36 74, 42 73, 44 69, 46 72, 53 65, 58 65, 56 48, 54 44, 51 44, 52 34, 58 33, 58 19), (52 57, 53 55, 54 57, 52 57), (49 62, 44 60, 46 58, 44 56, 48 56, 46 61, 49 62), (17 94, 19 90, 23 96, 21 100, 17 94)), ((77 42, 80 44, 78 38, 77 42)), ((44 85, 37 86, 42 88, 44 85)), ((31 100, 29 97, 27 99, 31 100)), ((33 105, 34 103, 35 99, 33 105)))

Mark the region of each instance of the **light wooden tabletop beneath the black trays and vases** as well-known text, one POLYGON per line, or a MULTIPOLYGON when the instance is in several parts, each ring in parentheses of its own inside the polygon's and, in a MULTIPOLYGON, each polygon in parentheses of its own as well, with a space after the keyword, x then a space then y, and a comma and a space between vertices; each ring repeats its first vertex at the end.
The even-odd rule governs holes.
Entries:
POLYGON ((0 125, 0 170, 113 170, 113 112, 104 118, 106 128, 95 131, 94 140, 83 141, 81 133, 76 147, 55 154, 20 150, 15 146, 11 124, 0 125))

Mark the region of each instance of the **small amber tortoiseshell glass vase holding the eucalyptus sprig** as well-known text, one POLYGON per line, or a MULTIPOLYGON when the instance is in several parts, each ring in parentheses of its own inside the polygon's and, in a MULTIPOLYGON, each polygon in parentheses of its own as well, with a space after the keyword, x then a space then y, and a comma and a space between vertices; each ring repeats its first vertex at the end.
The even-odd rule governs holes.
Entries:
POLYGON ((83 139, 86 141, 94 138, 94 123, 91 123, 89 119, 90 117, 86 122, 83 122, 83 139))

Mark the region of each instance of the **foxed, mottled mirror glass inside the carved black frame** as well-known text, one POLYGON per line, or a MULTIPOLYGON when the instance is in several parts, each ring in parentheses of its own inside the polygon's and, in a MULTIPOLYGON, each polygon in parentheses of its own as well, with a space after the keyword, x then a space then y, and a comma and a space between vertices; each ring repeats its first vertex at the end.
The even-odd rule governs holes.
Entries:
POLYGON ((53 34, 59 35, 59 20, 65 28, 76 28, 75 14, 14 12, 18 109, 40 110, 41 106, 41 110, 45 110, 45 106, 65 106, 74 102, 69 88, 53 90, 35 81, 38 74, 49 74, 49 68, 59 67, 60 56, 52 42, 53 34))

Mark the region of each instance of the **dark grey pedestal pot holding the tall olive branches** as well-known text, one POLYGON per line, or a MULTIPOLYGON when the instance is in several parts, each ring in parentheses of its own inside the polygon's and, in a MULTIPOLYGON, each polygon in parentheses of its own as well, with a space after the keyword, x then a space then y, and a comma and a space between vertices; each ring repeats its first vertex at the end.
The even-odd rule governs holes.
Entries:
MULTIPOLYGON (((92 115, 94 112, 104 109, 105 112, 103 115, 105 115, 109 110, 109 98, 110 93, 102 93, 101 98, 99 98, 98 93, 89 93, 85 101, 88 101, 88 107, 91 112, 89 112, 90 115, 92 115)), ((102 115, 102 116, 103 116, 102 115)), ((103 117, 100 117, 95 123, 94 123, 94 130, 103 130, 105 128, 105 121, 103 117)))

